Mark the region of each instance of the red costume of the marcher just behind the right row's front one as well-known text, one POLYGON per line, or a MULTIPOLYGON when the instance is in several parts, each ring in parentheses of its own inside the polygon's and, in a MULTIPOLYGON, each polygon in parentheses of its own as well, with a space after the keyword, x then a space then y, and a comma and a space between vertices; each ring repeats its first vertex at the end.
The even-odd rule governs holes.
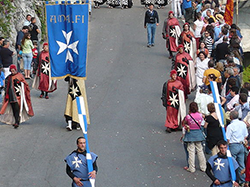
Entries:
POLYGON ((190 94, 189 61, 193 63, 191 56, 186 53, 177 53, 175 57, 175 70, 177 71, 177 80, 181 81, 184 88, 184 94, 190 94))

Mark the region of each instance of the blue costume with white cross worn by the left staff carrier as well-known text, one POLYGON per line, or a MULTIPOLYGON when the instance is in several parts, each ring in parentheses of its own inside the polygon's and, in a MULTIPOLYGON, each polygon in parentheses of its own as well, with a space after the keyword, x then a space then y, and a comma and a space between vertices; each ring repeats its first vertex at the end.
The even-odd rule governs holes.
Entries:
MULTIPOLYGON (((74 177, 80 178, 84 187, 91 187, 86 155, 86 151, 78 152, 78 150, 75 150, 70 155, 68 155, 64 161, 67 164, 67 174, 72 180, 74 177)), ((93 169, 97 171, 96 160, 98 156, 93 152, 90 152, 90 155, 92 158, 93 169)), ((74 180, 72 181, 72 187, 78 187, 74 180)))

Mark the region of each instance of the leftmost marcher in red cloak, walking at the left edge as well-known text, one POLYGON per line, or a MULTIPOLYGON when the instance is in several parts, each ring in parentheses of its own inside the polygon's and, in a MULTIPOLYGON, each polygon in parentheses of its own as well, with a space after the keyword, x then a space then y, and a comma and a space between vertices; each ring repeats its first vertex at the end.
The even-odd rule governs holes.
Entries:
POLYGON ((11 74, 5 80, 5 97, 0 111, 0 121, 12 124, 14 128, 34 116, 30 100, 29 85, 23 75, 17 72, 14 64, 10 65, 11 74))

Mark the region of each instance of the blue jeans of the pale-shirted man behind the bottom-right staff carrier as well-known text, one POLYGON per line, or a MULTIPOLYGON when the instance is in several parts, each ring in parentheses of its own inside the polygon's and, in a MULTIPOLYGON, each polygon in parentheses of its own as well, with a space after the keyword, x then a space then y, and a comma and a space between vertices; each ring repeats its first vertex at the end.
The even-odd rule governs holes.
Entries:
POLYGON ((229 149, 231 151, 232 156, 235 158, 237 163, 239 164, 239 168, 237 169, 237 172, 240 176, 240 183, 245 183, 245 174, 241 175, 240 172, 245 168, 244 163, 244 146, 243 144, 229 144, 229 149))

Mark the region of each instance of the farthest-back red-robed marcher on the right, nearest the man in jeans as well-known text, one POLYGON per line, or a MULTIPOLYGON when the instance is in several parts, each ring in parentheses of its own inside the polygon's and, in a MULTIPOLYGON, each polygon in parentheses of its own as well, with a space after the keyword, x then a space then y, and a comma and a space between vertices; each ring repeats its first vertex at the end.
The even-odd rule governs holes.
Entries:
POLYGON ((181 29, 179 21, 174 17, 174 12, 168 12, 168 18, 165 19, 162 28, 162 37, 166 39, 166 47, 169 51, 169 58, 173 58, 173 52, 177 51, 178 40, 181 29))

